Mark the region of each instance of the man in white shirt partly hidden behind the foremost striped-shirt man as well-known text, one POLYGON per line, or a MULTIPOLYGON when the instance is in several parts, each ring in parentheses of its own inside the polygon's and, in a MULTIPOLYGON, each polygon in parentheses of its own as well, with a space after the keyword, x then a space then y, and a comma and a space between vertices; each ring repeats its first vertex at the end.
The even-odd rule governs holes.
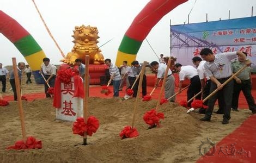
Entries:
MULTIPOLYGON (((203 95, 202 95, 202 99, 206 98, 209 94, 210 94, 210 87, 211 87, 211 80, 208 76, 206 76, 206 73, 205 73, 205 68, 204 68, 204 64, 206 61, 203 61, 200 57, 194 57, 192 58, 192 62, 193 64, 197 67, 197 72, 198 72, 198 75, 199 75, 199 78, 200 78, 200 82, 201 82, 201 85, 202 85, 202 89, 203 90, 203 95), (205 78, 206 78, 206 81, 205 81, 205 78)), ((218 106, 219 106, 219 110, 222 110, 221 108, 223 108, 223 101, 222 101, 222 95, 220 94, 218 96, 218 106)), ((204 105, 207 106, 208 104, 208 100, 206 100, 204 102, 204 105)), ((204 108, 200 108, 198 113, 200 114, 205 114, 205 109, 204 108)), ((220 111, 216 111, 215 112, 216 114, 223 114, 222 112, 220 111)))

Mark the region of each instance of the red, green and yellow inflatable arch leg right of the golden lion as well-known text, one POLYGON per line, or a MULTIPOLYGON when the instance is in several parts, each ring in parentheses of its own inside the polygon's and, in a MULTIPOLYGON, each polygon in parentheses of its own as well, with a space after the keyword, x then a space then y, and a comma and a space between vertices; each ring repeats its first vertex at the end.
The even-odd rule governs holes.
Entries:
POLYGON ((143 40, 161 18, 178 5, 187 0, 151 0, 133 20, 127 29, 118 48, 115 65, 121 65, 124 60, 131 63, 136 60, 136 55, 143 40))

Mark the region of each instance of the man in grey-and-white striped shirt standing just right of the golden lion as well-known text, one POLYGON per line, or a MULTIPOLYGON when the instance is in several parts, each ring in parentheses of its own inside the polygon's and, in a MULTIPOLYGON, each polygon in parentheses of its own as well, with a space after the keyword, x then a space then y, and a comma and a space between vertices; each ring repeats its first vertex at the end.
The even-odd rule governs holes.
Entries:
MULTIPOLYGON (((117 66, 113 65, 111 63, 111 59, 105 59, 105 64, 108 66, 108 70, 109 70, 109 74, 113 80, 113 92, 114 92, 114 97, 118 97, 119 96, 119 85, 121 83, 121 76, 120 76, 120 72, 117 66)), ((109 81, 111 82, 111 81, 109 81)))

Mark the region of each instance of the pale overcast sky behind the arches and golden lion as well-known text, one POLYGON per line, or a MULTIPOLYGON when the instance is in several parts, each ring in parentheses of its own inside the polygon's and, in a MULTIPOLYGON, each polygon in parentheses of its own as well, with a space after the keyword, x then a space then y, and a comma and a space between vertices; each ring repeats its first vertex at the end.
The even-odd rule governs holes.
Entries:
MULTIPOLYGON (((113 39, 100 49, 104 58, 115 62, 121 40, 130 27, 133 19, 144 8, 149 0, 35 0, 52 35, 60 48, 67 54, 74 43, 72 30, 75 26, 95 26, 99 30, 98 46, 113 39)), ((255 0, 190 0, 165 15, 154 28, 151 29, 147 40, 156 54, 170 55, 170 20, 172 25, 206 21, 227 20, 230 18, 256 16, 255 0)), ((48 35, 32 0, 0 0, 0 10, 13 17, 21 24, 39 43, 52 64, 62 64, 59 60, 62 55, 58 51, 51 37, 48 35)), ((147 41, 143 41, 137 54, 137 60, 158 60, 157 55, 150 48, 147 41)), ((4 35, 0 34, 0 56, 3 66, 11 65, 11 58, 16 57, 17 62, 25 58, 4 35)))

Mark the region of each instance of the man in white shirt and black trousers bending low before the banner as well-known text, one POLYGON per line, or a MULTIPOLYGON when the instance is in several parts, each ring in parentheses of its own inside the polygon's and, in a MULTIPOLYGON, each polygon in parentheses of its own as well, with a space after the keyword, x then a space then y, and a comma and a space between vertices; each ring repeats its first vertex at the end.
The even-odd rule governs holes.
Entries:
MULTIPOLYGON (((185 78, 190 79, 190 86, 187 89, 187 101, 190 100, 194 95, 201 91, 200 78, 197 73, 197 69, 193 66, 187 65, 182 66, 181 64, 175 64, 175 70, 179 72, 179 93, 181 92, 182 82, 185 78)), ((201 95, 198 95, 196 99, 201 99, 201 95)), ((191 102, 187 104, 188 107, 191 107, 191 102)))

